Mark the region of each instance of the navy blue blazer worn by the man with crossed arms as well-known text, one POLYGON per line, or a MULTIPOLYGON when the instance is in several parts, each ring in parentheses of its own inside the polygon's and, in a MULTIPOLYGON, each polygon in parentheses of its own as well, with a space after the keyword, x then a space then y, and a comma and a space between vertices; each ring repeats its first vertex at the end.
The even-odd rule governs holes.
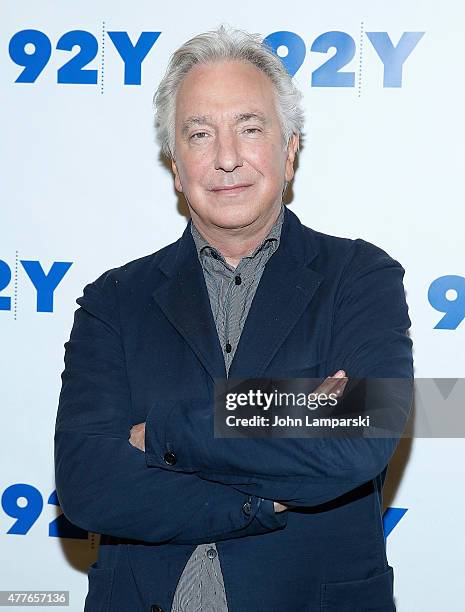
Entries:
MULTIPOLYGON (((190 223, 77 299, 55 471, 66 517, 104 534, 86 612, 169 611, 208 542, 230 612, 392 612, 382 486, 396 439, 214 437, 226 372, 190 223), (143 421, 145 453, 128 441, 143 421)), ((286 208, 230 378, 413 377, 403 275, 377 246, 286 208)))

